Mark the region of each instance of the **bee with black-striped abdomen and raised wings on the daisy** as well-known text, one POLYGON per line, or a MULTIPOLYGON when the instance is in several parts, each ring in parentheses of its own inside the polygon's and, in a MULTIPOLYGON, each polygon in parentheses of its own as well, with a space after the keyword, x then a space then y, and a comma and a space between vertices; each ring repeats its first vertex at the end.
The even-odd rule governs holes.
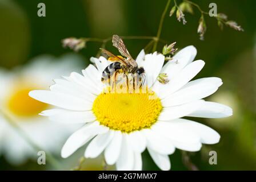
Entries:
POLYGON ((112 43, 115 48, 121 53, 122 56, 115 56, 113 53, 102 49, 102 52, 109 56, 110 61, 113 61, 105 70, 102 72, 102 82, 109 81, 110 78, 115 79, 118 73, 125 73, 127 76, 129 73, 138 74, 140 86, 145 82, 145 70, 143 67, 138 67, 136 61, 131 57, 129 51, 127 50, 125 43, 118 35, 113 35, 112 43), (112 73, 111 73, 112 71, 112 73))

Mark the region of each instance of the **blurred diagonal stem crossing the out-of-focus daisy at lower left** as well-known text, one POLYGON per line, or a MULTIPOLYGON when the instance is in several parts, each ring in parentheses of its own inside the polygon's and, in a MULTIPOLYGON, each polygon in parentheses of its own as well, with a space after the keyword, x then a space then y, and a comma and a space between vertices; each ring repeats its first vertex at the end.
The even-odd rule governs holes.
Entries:
MULTIPOLYGON (((8 114, 6 114, 3 110, 0 110, 0 114, 2 114, 2 116, 6 119, 6 121, 8 121, 10 123, 10 125, 18 132, 19 135, 21 135, 26 141, 27 143, 30 144, 31 147, 34 148, 35 151, 45 151, 42 150, 41 147, 39 147, 30 137, 29 135, 26 134, 26 132, 14 121, 13 118, 11 118, 8 114)), ((54 167, 55 169, 61 169, 61 165, 59 164, 59 162, 54 158, 53 155, 51 155, 49 152, 46 152, 46 158, 47 161, 50 163, 50 165, 52 167, 54 167)))

